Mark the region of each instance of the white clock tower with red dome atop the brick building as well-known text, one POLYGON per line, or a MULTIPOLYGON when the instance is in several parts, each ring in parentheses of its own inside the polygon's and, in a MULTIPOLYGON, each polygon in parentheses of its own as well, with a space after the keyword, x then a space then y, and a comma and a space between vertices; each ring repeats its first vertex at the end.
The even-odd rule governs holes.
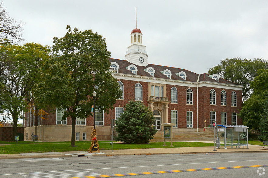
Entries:
POLYGON ((135 28, 130 33, 131 45, 128 47, 128 51, 125 53, 125 59, 132 64, 139 66, 148 65, 148 55, 145 50, 146 46, 143 43, 143 34, 139 28, 135 28))

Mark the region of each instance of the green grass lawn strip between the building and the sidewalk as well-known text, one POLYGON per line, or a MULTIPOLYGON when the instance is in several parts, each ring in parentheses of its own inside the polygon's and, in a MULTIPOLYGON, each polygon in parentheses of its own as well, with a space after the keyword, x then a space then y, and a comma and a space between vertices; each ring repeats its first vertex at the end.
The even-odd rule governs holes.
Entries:
MULTIPOLYGON (((0 154, 14 154, 14 153, 32 153, 32 152, 62 152, 62 151, 86 151, 91 145, 91 142, 76 142, 75 147, 70 146, 70 142, 29 142, 18 141, 4 142, 11 145, 0 146, 0 154)), ((124 144, 121 142, 114 142, 114 150, 123 149, 142 149, 142 148, 167 148, 170 147, 170 142, 163 146, 163 142, 148 143, 148 144, 124 144)), ((249 144, 263 145, 263 142, 249 141, 249 144)), ((100 150, 112 150, 112 145, 107 142, 99 142, 100 150)), ((214 143, 201 143, 201 142, 173 142, 174 147, 214 147, 214 143)))

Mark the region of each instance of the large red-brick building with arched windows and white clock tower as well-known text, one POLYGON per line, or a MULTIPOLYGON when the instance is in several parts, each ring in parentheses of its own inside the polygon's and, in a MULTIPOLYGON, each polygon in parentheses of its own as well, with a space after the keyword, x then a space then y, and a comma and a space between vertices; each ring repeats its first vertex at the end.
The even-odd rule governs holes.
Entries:
MULTIPOLYGON (((155 116, 154 127, 174 123, 174 131, 203 131, 206 126, 217 124, 241 125, 237 117, 242 108, 242 87, 220 78, 217 74, 194 72, 167 66, 148 64, 142 33, 131 32, 131 45, 125 60, 109 59, 109 72, 118 80, 122 97, 109 114, 96 110, 96 130, 99 140, 111 139, 111 119, 117 119, 128 101, 142 101, 155 116)), ((33 109, 34 110, 34 107, 33 109)), ((62 110, 49 112, 46 120, 34 117, 34 111, 25 113, 25 140, 38 135, 42 141, 70 141, 71 119, 62 121, 62 110)), ((76 121, 76 140, 89 141, 94 120, 91 116, 76 121)))

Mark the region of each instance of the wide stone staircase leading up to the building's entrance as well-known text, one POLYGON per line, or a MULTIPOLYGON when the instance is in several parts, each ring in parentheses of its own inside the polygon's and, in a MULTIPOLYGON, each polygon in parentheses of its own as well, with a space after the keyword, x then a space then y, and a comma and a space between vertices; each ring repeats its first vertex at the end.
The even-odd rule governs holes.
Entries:
MULTIPOLYGON (((157 131, 151 142, 163 142, 164 132, 157 131)), ((167 140, 166 140, 167 141, 167 140)), ((206 132, 173 132, 173 142, 214 141, 214 135, 206 132)))

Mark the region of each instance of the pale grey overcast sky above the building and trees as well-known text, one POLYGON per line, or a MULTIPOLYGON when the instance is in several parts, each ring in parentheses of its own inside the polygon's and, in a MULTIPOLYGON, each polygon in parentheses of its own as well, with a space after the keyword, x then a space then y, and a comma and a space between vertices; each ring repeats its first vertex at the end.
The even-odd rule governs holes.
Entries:
POLYGON ((267 0, 3 0, 25 23, 25 42, 53 45, 66 25, 106 38, 111 58, 125 60, 130 32, 143 33, 148 63, 206 73, 225 58, 268 59, 267 0))

